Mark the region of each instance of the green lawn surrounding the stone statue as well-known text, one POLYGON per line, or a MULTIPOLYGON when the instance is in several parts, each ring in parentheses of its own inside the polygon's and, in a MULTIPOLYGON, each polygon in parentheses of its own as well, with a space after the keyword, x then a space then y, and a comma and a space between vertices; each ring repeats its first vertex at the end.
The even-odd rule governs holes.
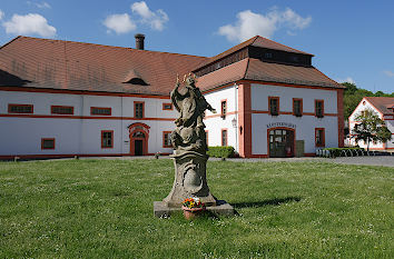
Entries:
POLYGON ((152 216, 173 162, 0 162, 0 258, 391 258, 393 168, 208 162, 238 216, 152 216))

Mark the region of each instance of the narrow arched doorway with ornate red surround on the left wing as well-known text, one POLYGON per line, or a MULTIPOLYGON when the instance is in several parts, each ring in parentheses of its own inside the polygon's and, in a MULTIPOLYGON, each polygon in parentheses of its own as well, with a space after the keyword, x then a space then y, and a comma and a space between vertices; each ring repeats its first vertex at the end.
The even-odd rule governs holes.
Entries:
POLYGON ((150 127, 137 122, 129 127, 130 137, 130 155, 131 156, 145 156, 148 153, 148 140, 149 140, 149 129, 150 127))

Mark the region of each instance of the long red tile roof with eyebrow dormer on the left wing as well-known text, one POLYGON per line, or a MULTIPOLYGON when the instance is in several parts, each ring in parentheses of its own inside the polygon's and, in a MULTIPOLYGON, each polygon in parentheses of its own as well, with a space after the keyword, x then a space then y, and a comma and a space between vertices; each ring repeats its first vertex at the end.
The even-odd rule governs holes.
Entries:
POLYGON ((206 59, 17 37, 0 49, 0 71, 16 77, 19 82, 30 81, 20 83, 22 87, 168 96, 177 73, 188 73, 206 59), (124 83, 134 77, 140 77, 148 86, 124 83))

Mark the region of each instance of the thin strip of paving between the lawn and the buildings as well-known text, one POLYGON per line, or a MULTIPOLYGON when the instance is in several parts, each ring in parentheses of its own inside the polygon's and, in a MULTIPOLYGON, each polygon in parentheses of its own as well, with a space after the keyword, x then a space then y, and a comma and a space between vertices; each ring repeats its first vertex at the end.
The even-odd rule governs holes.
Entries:
MULTIPOLYGON (((144 157, 105 157, 105 158, 81 158, 81 159, 155 159, 152 156, 144 157)), ((162 156, 159 159, 169 159, 168 156, 162 156)), ((220 158, 209 158, 211 161, 220 161, 220 158)), ((304 162, 304 161, 318 161, 318 162, 334 162, 344 165, 363 165, 363 166, 382 166, 394 167, 394 156, 376 156, 376 157, 344 157, 344 158, 228 158, 228 161, 235 162, 304 162)))

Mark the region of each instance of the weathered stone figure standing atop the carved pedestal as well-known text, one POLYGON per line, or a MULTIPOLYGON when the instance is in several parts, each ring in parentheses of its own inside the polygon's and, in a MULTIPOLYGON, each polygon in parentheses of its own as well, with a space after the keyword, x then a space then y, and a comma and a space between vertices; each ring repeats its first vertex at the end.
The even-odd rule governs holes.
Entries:
POLYGON ((193 150, 205 153, 207 150, 205 124, 203 117, 205 110, 216 113, 216 110, 207 102, 200 90, 196 87, 196 78, 190 73, 186 78, 184 92, 178 91, 179 77, 175 89, 171 91, 171 101, 178 110, 179 118, 175 121, 176 130, 171 133, 171 142, 175 150, 193 150))

